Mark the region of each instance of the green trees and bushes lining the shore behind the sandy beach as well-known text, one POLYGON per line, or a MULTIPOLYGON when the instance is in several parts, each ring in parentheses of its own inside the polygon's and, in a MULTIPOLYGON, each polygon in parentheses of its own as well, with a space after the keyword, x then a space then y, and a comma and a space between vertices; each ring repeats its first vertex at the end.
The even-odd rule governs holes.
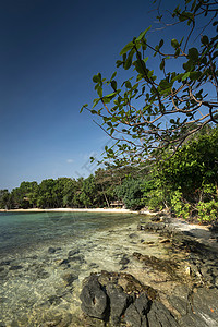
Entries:
POLYGON ((0 190, 0 208, 168 208, 182 218, 211 221, 218 217, 218 126, 205 126, 161 161, 134 166, 107 165, 88 178, 22 182, 0 190))

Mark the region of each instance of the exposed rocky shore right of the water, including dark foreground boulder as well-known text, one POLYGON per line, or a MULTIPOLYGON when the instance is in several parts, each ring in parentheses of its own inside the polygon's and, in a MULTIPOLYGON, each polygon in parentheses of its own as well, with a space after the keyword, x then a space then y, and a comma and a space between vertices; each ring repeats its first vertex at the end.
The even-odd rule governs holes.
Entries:
POLYGON ((170 259, 132 254, 153 276, 147 284, 125 272, 90 274, 81 292, 84 326, 218 326, 217 227, 159 214, 137 231, 158 233, 170 259))

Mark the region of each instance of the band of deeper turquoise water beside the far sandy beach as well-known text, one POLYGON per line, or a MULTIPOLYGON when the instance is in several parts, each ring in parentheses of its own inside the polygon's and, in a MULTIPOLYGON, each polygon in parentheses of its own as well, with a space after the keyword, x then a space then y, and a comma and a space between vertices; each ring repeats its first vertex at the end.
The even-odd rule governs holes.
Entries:
POLYGON ((0 257, 39 244, 85 237, 85 233, 130 223, 134 219, 132 214, 0 213, 0 257))

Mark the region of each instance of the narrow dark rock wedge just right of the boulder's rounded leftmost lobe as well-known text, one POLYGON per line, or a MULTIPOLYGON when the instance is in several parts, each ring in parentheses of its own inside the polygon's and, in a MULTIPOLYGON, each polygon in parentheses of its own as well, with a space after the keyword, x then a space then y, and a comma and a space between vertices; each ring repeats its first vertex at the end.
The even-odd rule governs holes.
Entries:
POLYGON ((108 283, 106 287, 107 294, 110 299, 110 319, 112 325, 118 325, 121 316, 124 314, 132 298, 123 292, 123 289, 114 283, 108 283))

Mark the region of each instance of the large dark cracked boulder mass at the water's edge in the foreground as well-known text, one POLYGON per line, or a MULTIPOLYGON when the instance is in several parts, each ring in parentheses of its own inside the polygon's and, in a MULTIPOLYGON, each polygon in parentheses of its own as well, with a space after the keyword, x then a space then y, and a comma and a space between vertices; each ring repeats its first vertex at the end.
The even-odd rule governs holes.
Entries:
POLYGON ((108 326, 180 326, 158 293, 129 274, 90 275, 84 282, 81 301, 86 315, 108 326))

